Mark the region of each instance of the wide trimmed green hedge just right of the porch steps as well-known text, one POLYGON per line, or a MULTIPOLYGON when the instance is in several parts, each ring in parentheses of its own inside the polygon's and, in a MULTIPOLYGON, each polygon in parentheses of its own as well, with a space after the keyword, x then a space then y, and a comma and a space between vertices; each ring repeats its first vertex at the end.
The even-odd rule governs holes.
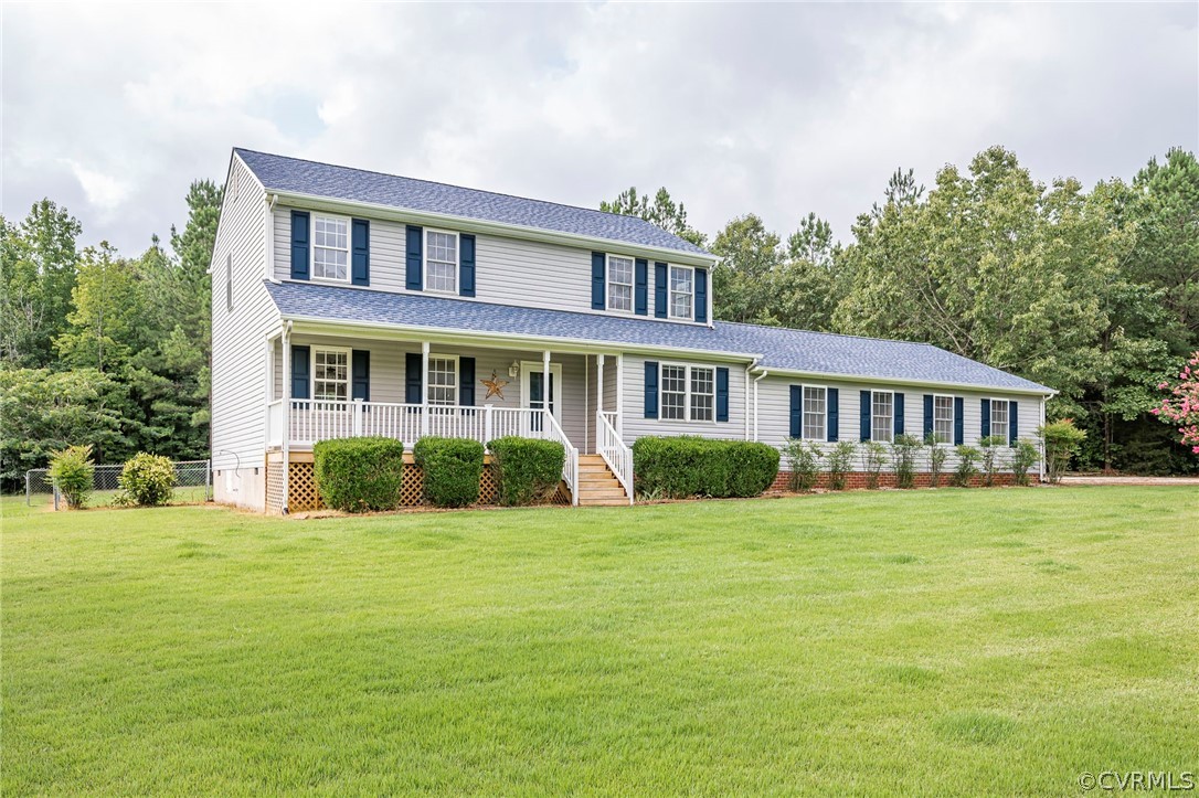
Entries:
POLYGON ((639 437, 633 443, 637 490, 670 498, 757 496, 778 476, 778 449, 752 441, 692 435, 639 437))

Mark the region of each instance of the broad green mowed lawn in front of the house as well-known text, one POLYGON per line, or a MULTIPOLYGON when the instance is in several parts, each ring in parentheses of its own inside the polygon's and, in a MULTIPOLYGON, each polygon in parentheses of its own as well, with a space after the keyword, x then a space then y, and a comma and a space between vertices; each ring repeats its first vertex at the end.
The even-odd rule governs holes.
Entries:
POLYGON ((2 788, 1073 794, 1199 772, 1199 491, 2 506, 2 788))

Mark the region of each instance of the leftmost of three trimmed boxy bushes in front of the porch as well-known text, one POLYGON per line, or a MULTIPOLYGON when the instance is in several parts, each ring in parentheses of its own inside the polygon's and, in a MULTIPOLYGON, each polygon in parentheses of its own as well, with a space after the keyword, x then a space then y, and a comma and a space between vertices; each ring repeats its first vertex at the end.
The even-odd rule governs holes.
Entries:
POLYGON ((393 437, 341 437, 313 448, 313 473, 320 498, 347 513, 399 507, 404 480, 404 445, 393 437))

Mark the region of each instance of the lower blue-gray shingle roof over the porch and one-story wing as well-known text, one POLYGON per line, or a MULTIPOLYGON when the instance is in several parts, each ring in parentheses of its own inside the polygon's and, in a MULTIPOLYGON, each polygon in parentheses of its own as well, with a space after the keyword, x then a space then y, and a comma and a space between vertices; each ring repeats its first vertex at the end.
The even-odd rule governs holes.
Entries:
POLYGON ((267 282, 266 289, 279 313, 288 318, 755 355, 767 369, 1049 392, 1042 385, 929 344, 724 321, 704 327, 308 283, 267 282))

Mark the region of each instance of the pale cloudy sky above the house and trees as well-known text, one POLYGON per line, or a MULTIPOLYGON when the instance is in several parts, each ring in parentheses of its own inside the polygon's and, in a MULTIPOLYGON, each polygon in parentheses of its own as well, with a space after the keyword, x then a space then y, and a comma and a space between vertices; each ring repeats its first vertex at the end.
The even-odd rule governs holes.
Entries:
POLYGON ((126 254, 235 145, 842 238, 897 167, 1004 144, 1093 183, 1199 149, 1195 2, 5 2, 2 59, 5 217, 49 197, 126 254))

